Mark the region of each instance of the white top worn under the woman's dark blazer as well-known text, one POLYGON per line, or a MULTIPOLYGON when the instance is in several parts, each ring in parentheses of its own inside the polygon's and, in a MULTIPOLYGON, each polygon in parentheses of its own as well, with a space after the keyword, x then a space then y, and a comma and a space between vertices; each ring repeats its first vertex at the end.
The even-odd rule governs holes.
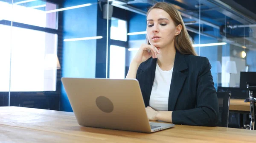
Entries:
POLYGON ((149 106, 156 111, 168 111, 172 71, 173 67, 171 70, 162 70, 157 64, 154 83, 149 100, 149 106))

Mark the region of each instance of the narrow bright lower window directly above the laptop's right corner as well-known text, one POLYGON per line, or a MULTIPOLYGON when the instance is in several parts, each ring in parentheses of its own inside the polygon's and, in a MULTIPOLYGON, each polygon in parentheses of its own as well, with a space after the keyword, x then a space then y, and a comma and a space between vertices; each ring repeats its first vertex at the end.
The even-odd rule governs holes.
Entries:
POLYGON ((125 48, 116 45, 110 46, 110 79, 125 78, 125 48))

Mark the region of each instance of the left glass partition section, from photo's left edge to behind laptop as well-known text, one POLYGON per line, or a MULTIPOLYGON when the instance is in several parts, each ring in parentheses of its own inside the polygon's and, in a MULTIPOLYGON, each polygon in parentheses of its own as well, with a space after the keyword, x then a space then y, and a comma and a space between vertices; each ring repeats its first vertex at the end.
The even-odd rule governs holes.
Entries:
POLYGON ((71 112, 61 77, 106 77, 106 10, 98 0, 0 0, 0 106, 71 112))

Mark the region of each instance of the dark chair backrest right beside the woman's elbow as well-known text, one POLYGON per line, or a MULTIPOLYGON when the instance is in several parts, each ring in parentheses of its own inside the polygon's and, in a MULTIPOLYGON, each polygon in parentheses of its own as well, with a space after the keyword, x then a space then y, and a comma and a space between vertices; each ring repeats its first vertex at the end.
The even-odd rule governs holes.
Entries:
POLYGON ((231 92, 217 92, 219 103, 219 121, 218 126, 228 126, 228 114, 231 92))

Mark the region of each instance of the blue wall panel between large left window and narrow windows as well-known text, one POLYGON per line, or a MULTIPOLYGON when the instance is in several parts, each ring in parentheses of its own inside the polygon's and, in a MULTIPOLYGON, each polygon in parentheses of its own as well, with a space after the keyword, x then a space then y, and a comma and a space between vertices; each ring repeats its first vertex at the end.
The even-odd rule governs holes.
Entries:
MULTIPOLYGON (((97 0, 65 0, 64 7, 97 0)), ((97 4, 63 11, 64 39, 91 37, 97 31, 97 4)), ((94 78, 96 69, 96 40, 63 42, 62 77, 94 78)), ((61 85, 60 110, 72 112, 67 93, 61 85)))

